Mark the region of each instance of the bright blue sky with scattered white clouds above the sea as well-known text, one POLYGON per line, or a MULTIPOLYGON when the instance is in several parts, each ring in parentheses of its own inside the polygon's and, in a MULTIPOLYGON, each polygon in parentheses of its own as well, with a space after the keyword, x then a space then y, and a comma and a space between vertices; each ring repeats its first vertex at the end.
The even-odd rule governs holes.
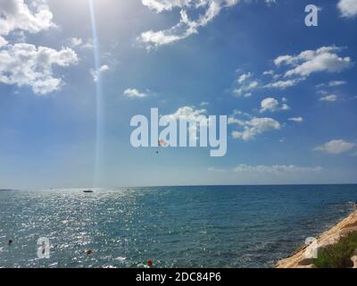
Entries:
POLYGON ((356 0, 93 4, 100 50, 88 0, 0 2, 0 188, 356 182, 356 0), (131 147, 152 107, 228 115, 228 154, 131 147))

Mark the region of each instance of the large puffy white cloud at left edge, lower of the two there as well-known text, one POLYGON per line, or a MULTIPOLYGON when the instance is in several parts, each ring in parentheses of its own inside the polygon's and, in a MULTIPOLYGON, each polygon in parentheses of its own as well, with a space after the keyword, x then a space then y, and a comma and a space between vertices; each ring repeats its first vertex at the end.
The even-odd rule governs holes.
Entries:
POLYGON ((57 51, 29 44, 6 45, 0 50, 0 82, 29 86, 37 95, 61 88, 62 79, 54 77, 53 66, 67 67, 78 63, 71 48, 57 51))

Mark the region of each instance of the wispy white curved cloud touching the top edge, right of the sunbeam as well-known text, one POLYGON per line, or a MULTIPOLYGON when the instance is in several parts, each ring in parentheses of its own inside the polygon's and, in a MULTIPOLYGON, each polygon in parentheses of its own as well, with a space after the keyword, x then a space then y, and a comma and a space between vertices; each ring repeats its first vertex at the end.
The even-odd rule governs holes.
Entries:
POLYGON ((212 21, 222 8, 233 6, 238 3, 238 0, 142 0, 142 3, 156 13, 170 11, 173 8, 180 9, 178 24, 170 29, 145 31, 137 38, 140 43, 150 49, 196 34, 198 29, 212 21), (204 13, 200 14, 197 19, 189 19, 188 12, 199 13, 202 10, 204 13))

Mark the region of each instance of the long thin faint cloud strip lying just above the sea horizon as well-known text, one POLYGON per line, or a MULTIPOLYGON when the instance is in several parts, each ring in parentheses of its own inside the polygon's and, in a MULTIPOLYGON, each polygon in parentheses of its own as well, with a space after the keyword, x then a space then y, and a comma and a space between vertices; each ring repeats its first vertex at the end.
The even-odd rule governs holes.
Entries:
POLYGON ((320 172, 322 171, 321 167, 299 167, 294 164, 290 165, 248 165, 248 164, 239 164, 234 172, 253 172, 253 173, 268 173, 268 174, 283 174, 291 172, 320 172))

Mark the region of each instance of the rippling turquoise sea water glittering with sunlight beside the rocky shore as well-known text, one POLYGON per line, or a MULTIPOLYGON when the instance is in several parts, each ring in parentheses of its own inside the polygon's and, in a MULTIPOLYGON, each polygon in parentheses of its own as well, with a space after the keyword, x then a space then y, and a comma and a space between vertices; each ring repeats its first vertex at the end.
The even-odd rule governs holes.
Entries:
POLYGON ((82 190, 1 190, 0 267, 269 267, 357 201, 357 185, 82 190))

